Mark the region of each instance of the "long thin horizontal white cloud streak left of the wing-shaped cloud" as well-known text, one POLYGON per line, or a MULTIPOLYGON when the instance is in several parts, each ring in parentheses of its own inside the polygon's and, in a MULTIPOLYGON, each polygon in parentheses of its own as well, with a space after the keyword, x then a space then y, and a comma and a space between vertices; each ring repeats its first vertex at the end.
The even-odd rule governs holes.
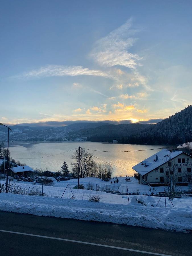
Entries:
MULTIPOLYGON (((49 65, 41 67, 40 69, 32 70, 28 73, 24 73, 19 77, 65 77, 65 76, 99 76, 99 77, 111 77, 101 70, 94 70, 83 68, 82 66, 62 66, 62 65, 49 65)), ((76 83, 75 83, 76 84, 76 83)))

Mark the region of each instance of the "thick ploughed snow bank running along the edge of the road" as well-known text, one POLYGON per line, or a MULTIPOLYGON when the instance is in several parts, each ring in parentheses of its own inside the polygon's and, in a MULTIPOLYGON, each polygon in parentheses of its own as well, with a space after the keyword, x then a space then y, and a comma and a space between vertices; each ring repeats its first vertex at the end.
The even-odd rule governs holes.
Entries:
MULTIPOLYGON (((0 210, 182 232, 192 230, 192 209, 190 207, 176 209, 141 207, 138 206, 142 205, 138 203, 139 200, 142 198, 134 196, 131 199, 131 205, 123 205, 1 193, 0 210)), ((154 203, 153 197, 147 197, 146 202, 154 203)))

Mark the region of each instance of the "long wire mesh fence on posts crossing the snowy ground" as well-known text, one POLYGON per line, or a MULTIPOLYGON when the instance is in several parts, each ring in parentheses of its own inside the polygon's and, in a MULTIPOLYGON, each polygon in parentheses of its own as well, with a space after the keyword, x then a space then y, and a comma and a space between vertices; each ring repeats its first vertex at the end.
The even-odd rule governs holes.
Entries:
MULTIPOLYGON (((147 185, 117 184, 106 182, 80 183, 70 179, 62 182, 27 182, 8 181, 8 192, 13 194, 61 198, 66 200, 80 200, 83 202, 101 202, 105 204, 139 205, 146 207, 190 207, 192 208, 192 190, 186 186, 183 190, 176 188, 174 200, 166 187, 149 187, 147 185)), ((5 193, 6 181, 0 180, 0 193, 5 193)))

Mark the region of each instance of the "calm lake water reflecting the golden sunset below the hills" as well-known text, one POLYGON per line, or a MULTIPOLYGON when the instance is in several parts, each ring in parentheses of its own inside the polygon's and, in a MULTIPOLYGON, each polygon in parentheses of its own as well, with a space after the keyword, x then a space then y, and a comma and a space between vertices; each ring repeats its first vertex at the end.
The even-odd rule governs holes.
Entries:
MULTIPOLYGON (((6 145, 5 145, 6 146, 6 145)), ((11 157, 16 161, 29 165, 33 169, 35 168, 48 168, 50 171, 57 172, 61 169, 63 162, 65 161, 71 170, 71 152, 62 152, 75 149, 78 147, 89 148, 94 150, 104 151, 125 151, 125 150, 142 150, 151 148, 161 148, 160 145, 131 145, 131 144, 109 144, 99 142, 12 142, 10 143, 11 157), (51 156, 59 154, 56 156, 51 156), (40 158, 41 157, 41 158, 40 158), (31 159, 28 159, 31 158, 31 159), (33 159, 34 158, 34 159, 33 159)), ((114 176, 132 176, 135 171, 132 166, 148 158, 152 154, 156 154, 160 149, 139 151, 139 152, 98 152, 90 151, 94 156, 109 162, 118 167, 114 167, 114 176), (122 169, 124 168, 124 169, 122 169)), ((99 162, 97 158, 93 158, 96 162, 99 162)))

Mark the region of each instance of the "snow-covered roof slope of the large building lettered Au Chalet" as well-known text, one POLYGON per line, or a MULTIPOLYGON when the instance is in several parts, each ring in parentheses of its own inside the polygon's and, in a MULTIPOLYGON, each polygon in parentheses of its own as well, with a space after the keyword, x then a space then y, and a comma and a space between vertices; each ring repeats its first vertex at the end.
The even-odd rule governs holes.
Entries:
POLYGON ((152 170, 158 168, 165 162, 168 162, 169 160, 173 159, 176 156, 179 156, 182 154, 183 151, 171 151, 168 149, 162 149, 158 153, 150 156, 149 158, 145 159, 144 161, 140 162, 139 164, 136 164, 132 167, 133 170, 141 174, 142 176, 147 174, 148 172, 151 172, 152 170), (156 160, 156 156, 158 160, 156 160))

